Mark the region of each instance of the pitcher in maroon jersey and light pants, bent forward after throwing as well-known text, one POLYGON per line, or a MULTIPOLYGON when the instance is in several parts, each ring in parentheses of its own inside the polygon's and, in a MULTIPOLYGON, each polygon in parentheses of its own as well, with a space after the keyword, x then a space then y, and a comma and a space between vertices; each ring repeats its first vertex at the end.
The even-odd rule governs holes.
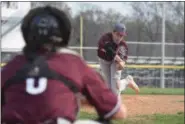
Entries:
POLYGON ((103 72, 109 88, 119 94, 127 86, 139 92, 139 87, 133 77, 128 75, 121 80, 121 72, 125 68, 128 56, 128 47, 124 41, 126 28, 123 24, 115 24, 113 32, 104 34, 98 42, 98 57, 100 69, 103 72))

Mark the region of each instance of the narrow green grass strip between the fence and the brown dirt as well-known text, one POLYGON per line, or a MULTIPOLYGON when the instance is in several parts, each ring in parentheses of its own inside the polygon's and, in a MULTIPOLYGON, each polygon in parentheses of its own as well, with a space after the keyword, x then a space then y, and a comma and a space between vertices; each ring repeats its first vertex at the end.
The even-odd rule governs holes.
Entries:
MULTIPOLYGON (((135 92, 127 88, 123 94, 135 94, 135 92)), ((140 95, 184 95, 184 88, 140 88, 140 95)))

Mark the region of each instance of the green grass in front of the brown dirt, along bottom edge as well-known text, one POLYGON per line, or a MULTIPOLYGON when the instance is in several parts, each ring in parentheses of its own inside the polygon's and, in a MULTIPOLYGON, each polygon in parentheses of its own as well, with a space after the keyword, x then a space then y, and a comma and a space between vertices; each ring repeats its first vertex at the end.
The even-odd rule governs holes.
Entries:
MULTIPOLYGON (((80 119, 96 119, 97 115, 81 112, 80 119)), ((153 114, 130 117, 123 121, 113 121, 113 124, 184 124, 184 112, 177 114, 153 114)))

